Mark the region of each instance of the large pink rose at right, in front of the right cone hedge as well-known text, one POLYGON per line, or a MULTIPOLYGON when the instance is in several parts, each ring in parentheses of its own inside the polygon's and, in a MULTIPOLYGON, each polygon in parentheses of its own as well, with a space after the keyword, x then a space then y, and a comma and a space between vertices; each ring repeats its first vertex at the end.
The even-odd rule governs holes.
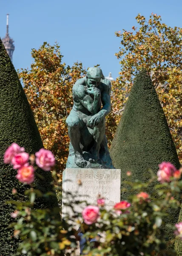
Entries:
POLYGON ((172 163, 162 162, 159 164, 159 171, 157 172, 158 181, 161 183, 169 182, 173 173, 176 171, 176 167, 172 163))

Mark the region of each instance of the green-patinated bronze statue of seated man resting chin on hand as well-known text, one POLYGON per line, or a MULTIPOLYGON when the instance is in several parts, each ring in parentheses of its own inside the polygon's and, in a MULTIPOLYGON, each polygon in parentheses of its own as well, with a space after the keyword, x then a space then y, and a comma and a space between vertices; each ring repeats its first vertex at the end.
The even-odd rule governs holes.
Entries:
POLYGON ((111 82, 91 67, 73 86, 74 105, 66 124, 70 137, 67 168, 114 169, 105 136, 105 116, 111 111, 111 82))

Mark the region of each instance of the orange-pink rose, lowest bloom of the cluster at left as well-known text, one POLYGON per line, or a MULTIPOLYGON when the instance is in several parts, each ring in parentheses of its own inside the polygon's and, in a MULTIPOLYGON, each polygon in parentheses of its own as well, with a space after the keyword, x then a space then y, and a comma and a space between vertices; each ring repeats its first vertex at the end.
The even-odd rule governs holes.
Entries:
POLYGON ((34 168, 33 166, 22 166, 18 169, 16 178, 26 184, 30 184, 34 181, 34 168))

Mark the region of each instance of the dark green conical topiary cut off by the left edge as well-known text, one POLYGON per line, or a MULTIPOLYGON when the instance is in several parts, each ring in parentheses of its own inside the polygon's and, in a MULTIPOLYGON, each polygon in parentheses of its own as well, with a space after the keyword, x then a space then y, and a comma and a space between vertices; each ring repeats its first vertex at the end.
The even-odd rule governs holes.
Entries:
MULTIPOLYGON (((6 201, 14 200, 11 192, 13 188, 22 195, 28 188, 15 178, 17 171, 3 163, 3 155, 13 142, 24 147, 29 154, 43 148, 30 105, 0 39, 0 251, 3 256, 14 255, 19 242, 14 239, 13 230, 9 228, 10 222, 13 221, 10 213, 14 211, 14 207, 6 204, 6 201)), ((51 173, 42 170, 39 170, 39 173, 44 179, 38 180, 37 183, 44 192, 51 191, 51 173)), ((57 199, 41 199, 39 204, 40 207, 52 208, 57 206, 57 199)))

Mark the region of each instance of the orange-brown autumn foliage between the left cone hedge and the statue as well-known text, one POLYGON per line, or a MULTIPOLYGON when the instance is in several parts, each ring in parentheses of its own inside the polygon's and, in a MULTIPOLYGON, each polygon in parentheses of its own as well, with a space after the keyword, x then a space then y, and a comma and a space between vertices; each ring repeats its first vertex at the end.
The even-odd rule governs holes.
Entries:
POLYGON ((18 70, 24 90, 46 149, 51 150, 63 170, 68 156, 69 137, 65 119, 73 106, 72 87, 85 74, 81 63, 63 63, 60 46, 44 43, 32 49, 30 69, 18 70), (71 79, 70 79, 71 76, 71 79))

